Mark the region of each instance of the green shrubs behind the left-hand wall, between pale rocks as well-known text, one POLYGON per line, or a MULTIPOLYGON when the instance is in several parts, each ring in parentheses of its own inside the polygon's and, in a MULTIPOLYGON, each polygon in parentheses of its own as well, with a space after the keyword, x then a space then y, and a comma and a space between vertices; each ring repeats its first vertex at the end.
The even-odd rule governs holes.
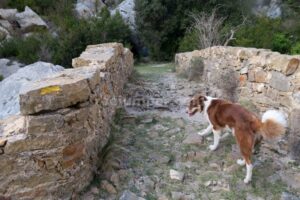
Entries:
POLYGON ((49 33, 44 30, 25 38, 16 36, 2 42, 0 57, 13 57, 25 64, 41 60, 70 67, 72 58, 79 56, 89 44, 121 42, 130 46, 130 29, 119 13, 111 16, 104 8, 99 16, 84 20, 74 15, 71 0, 59 0, 60 4, 44 0, 39 4, 40 1, 12 0, 8 5, 19 8, 28 2, 33 8, 47 13, 47 19, 54 23, 52 26, 57 31, 49 33), (51 6, 44 7, 46 2, 51 6))

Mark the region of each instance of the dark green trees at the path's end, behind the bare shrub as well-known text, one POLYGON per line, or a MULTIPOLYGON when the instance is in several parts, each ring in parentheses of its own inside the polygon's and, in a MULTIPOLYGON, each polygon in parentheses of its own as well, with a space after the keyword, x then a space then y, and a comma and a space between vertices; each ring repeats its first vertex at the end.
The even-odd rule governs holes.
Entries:
POLYGON ((189 43, 192 36, 187 32, 192 21, 189 15, 191 12, 210 13, 219 7, 221 16, 239 24, 239 3, 231 0, 135 0, 139 37, 152 59, 171 60, 178 48, 180 51, 194 49, 189 43))

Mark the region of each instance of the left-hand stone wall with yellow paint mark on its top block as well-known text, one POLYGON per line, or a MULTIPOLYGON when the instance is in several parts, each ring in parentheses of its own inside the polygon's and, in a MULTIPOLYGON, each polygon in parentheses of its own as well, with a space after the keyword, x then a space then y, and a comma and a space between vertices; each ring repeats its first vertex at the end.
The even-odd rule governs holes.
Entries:
POLYGON ((29 84, 21 115, 0 121, 0 199, 70 199, 92 180, 133 55, 91 45, 73 66, 29 84))

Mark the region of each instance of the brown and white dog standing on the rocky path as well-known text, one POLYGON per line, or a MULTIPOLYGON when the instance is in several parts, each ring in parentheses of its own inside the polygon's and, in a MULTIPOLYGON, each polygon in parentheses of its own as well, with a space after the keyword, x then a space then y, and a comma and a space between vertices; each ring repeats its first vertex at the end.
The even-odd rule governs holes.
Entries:
POLYGON ((265 112, 260 120, 241 105, 226 100, 208 96, 195 95, 189 103, 188 113, 193 116, 197 112, 204 112, 209 126, 198 133, 206 136, 213 132, 214 142, 209 149, 214 151, 219 145, 221 131, 230 128, 240 147, 243 159, 238 159, 239 165, 245 165, 247 174, 244 179, 249 183, 252 178, 251 154, 258 136, 264 138, 276 138, 285 133, 285 116, 276 110, 265 112))

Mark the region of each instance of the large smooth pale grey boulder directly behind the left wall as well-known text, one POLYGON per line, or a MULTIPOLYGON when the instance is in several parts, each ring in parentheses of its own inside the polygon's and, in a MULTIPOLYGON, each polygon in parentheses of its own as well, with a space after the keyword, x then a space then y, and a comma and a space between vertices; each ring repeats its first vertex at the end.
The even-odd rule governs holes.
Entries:
POLYGON ((31 81, 47 78, 64 68, 45 62, 36 62, 19 69, 0 82, 0 119, 20 112, 19 94, 31 81))

